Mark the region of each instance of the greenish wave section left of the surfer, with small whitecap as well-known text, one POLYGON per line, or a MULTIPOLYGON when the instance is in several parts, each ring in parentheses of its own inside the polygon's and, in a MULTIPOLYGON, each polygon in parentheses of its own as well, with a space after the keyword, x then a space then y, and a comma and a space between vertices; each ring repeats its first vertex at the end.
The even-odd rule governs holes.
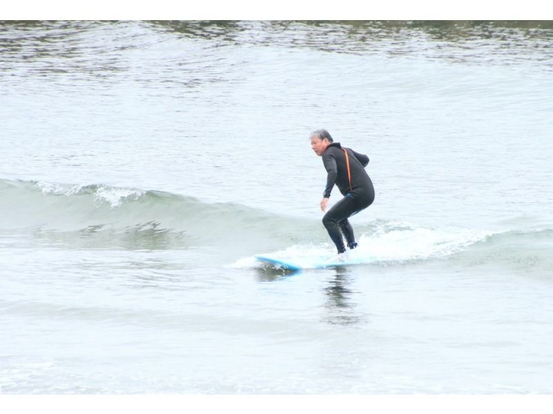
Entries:
POLYGON ((71 243, 84 237, 100 247, 111 246, 114 237, 123 242, 170 240, 176 247, 247 244, 268 232, 272 240, 283 242, 293 239, 294 231, 312 229, 312 223, 238 204, 103 184, 0 179, 0 199, 0 228, 5 231, 32 231, 71 243))

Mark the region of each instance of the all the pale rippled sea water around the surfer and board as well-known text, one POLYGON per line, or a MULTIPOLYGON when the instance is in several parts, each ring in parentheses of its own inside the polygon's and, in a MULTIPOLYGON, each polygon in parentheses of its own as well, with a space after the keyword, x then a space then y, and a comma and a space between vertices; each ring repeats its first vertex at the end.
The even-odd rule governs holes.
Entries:
POLYGON ((553 393, 552 96, 551 22, 1 22, 1 392, 553 393), (366 264, 266 267, 321 127, 366 264))

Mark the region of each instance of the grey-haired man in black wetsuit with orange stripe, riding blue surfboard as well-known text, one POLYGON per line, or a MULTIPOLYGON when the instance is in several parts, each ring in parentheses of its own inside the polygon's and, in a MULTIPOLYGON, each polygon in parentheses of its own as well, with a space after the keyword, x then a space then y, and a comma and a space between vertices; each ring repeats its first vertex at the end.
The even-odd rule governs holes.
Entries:
POLYGON ((338 254, 346 253, 342 234, 350 249, 357 247, 353 228, 348 218, 364 210, 375 199, 373 182, 368 177, 365 167, 368 156, 359 154, 340 143, 332 141, 326 129, 317 129, 311 134, 311 148, 315 154, 323 157, 324 167, 328 172, 326 187, 321 200, 321 211, 326 211, 330 192, 336 184, 344 198, 338 201, 323 217, 323 224, 336 245, 338 254))

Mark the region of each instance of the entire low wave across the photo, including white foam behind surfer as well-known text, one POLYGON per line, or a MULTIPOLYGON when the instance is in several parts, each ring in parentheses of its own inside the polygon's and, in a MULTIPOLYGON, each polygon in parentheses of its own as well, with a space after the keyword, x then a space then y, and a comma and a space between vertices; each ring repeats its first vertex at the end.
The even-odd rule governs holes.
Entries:
MULTIPOLYGON (((499 264, 550 272, 553 230, 524 226, 522 221, 507 230, 485 231, 377 220, 355 226, 359 248, 350 254, 379 265, 447 259, 460 267, 499 264)), ((319 219, 103 184, 0 180, 0 229, 79 248, 224 246, 238 254, 251 253, 232 265, 237 268, 259 266, 255 253, 301 263, 328 257, 334 250, 319 219)))

